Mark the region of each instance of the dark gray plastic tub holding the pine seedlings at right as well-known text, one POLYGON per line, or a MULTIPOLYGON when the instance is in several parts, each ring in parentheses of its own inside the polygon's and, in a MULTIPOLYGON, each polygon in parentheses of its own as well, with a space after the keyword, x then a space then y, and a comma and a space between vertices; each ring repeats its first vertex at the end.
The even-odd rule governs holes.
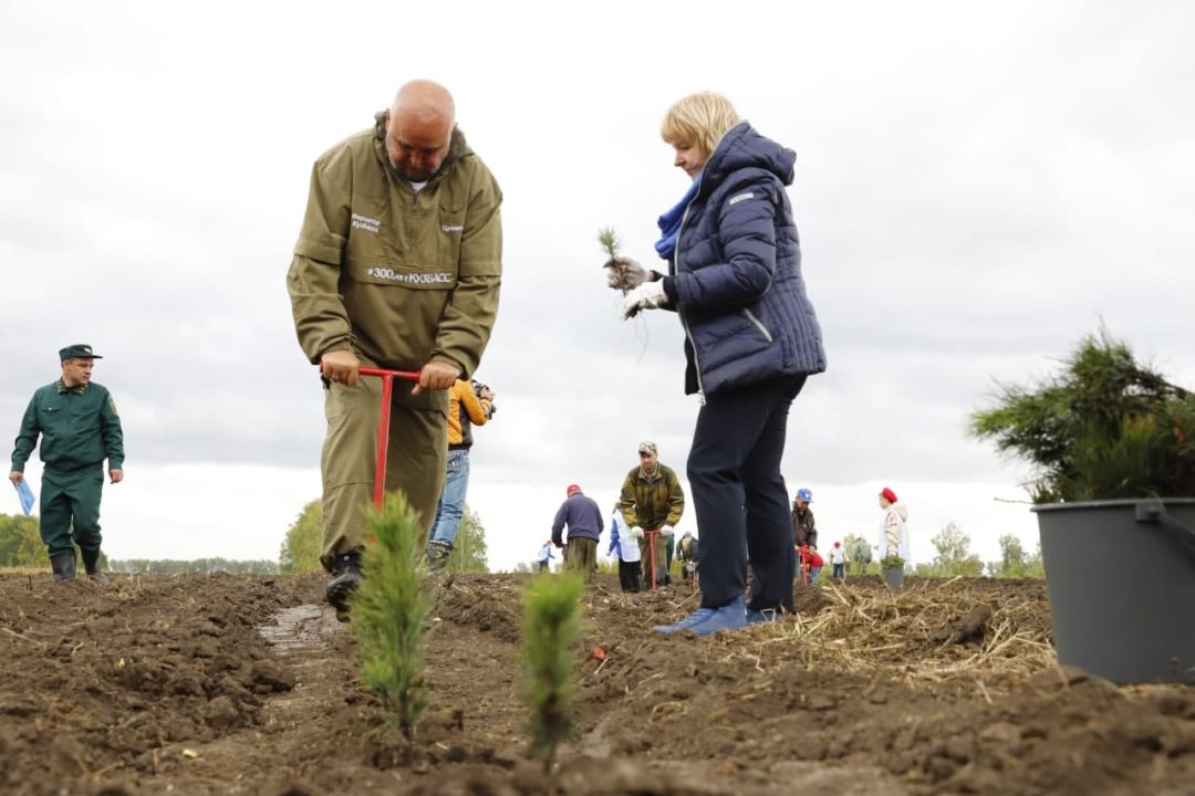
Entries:
POLYGON ((1060 664, 1195 685, 1195 498, 1035 506, 1060 664))

